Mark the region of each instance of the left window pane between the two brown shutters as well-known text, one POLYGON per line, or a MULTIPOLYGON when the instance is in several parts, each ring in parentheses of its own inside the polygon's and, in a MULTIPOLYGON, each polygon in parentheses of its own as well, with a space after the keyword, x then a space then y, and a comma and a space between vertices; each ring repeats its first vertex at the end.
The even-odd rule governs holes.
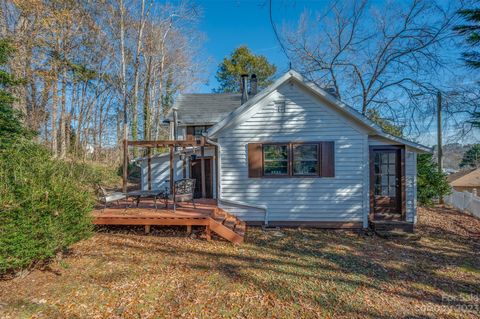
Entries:
POLYGON ((288 175, 288 144, 263 145, 263 174, 288 175))

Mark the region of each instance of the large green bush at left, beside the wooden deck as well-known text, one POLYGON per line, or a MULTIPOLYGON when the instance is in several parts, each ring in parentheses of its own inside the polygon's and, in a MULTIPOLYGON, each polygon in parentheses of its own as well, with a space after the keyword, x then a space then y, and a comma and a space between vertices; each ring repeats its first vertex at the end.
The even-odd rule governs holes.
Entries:
POLYGON ((33 142, 0 148, 0 274, 88 237, 98 179, 88 165, 53 160, 33 142))

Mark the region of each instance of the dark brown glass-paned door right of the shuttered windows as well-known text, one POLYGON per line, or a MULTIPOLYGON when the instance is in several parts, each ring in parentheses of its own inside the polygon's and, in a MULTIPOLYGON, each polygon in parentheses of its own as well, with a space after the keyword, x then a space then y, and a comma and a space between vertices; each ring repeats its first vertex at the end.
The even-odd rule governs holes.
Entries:
POLYGON ((371 169, 374 220, 401 220, 401 149, 372 149, 371 169))

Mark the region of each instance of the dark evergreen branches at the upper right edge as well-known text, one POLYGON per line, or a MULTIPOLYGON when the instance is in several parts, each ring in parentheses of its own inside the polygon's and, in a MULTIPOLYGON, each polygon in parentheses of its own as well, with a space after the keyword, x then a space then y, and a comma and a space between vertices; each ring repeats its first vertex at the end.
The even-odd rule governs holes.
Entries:
POLYGON ((465 63, 475 69, 480 68, 480 51, 473 48, 480 47, 480 8, 459 10, 458 14, 470 24, 462 24, 454 27, 457 33, 466 38, 466 42, 472 47, 471 51, 462 53, 465 63))

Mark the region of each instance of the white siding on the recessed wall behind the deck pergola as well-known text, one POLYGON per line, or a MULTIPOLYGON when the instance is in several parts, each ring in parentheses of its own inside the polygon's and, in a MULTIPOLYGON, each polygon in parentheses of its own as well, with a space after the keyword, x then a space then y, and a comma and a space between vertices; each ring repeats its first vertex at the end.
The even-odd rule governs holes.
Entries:
MULTIPOLYGON (((187 178, 190 177, 190 154, 192 154, 192 150, 187 150, 187 178)), ((200 148, 196 148, 196 154, 200 155, 200 148)), ((206 157, 213 157, 215 156, 215 150, 211 147, 205 148, 205 156, 206 157)), ((140 162, 141 168, 141 187, 142 190, 148 189, 148 164, 147 160, 143 159, 140 162)), ((216 178, 215 178, 215 163, 212 160, 212 175, 213 175, 213 197, 216 197, 216 178)), ((169 186, 168 180, 170 180, 170 156, 168 153, 160 154, 158 156, 154 156, 151 162, 151 170, 152 170, 152 189, 164 189, 165 186, 169 186)), ((182 169, 182 160, 180 160, 180 154, 177 152, 174 157, 174 176, 175 180, 179 180, 183 178, 183 169, 182 169)))

